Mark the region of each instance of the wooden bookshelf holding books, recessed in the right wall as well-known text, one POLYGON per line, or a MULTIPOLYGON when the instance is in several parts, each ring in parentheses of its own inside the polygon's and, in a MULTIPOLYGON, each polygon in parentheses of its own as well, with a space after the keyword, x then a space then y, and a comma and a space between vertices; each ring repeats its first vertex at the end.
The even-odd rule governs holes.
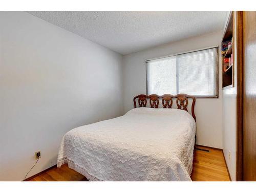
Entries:
POLYGON ((222 88, 233 87, 234 74, 234 51, 233 51, 233 12, 230 12, 223 34, 221 51, 222 51, 222 88), (224 63, 225 61, 225 63, 224 63), (227 62, 228 61, 228 62, 227 62))

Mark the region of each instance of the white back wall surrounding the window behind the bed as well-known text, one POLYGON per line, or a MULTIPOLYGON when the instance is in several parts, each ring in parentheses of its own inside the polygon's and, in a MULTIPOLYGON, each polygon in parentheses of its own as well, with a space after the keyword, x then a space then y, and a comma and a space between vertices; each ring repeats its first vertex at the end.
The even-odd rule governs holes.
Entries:
MULTIPOLYGON (((138 94, 146 94, 146 59, 216 45, 220 46, 221 38, 222 31, 218 31, 125 55, 123 57, 124 111, 127 112, 133 108, 134 96, 138 94)), ((221 52, 219 50, 219 55, 220 54, 221 52)), ((197 144, 217 148, 222 148, 221 70, 220 59, 219 98, 198 98, 195 106, 195 113, 197 117, 197 144)))

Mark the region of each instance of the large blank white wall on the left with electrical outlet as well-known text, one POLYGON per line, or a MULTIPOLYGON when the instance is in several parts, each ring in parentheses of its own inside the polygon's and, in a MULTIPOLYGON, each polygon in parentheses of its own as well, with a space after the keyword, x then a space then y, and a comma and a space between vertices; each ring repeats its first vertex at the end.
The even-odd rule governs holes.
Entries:
POLYGON ((56 164, 74 127, 123 114, 122 56, 25 12, 0 12, 0 180, 56 164))

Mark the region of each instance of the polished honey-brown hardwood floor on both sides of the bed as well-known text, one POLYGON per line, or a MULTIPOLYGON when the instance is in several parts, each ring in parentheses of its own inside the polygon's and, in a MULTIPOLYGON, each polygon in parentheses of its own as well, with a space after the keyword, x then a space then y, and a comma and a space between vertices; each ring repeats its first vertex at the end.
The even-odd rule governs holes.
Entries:
MULTIPOLYGON (((197 148, 209 150, 195 151, 193 171, 191 179, 193 181, 229 181, 228 172, 222 151, 207 147, 197 148)), ((88 181, 84 176, 70 169, 67 164, 60 168, 54 167, 29 181, 88 181)))

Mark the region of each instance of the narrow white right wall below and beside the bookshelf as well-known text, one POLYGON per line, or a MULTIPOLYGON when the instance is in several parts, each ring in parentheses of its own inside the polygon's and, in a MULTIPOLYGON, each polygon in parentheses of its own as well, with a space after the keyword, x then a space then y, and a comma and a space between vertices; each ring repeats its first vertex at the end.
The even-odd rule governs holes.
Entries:
MULTIPOLYGON (((234 15, 236 19, 236 15, 234 15)), ((235 22, 236 23, 236 22, 235 22)), ((236 27, 236 26, 235 26, 236 27)), ((234 30, 236 36, 236 30, 234 30)), ((236 52, 236 38, 234 51, 236 52)), ((237 108, 237 54, 234 54, 234 87, 222 90, 223 96, 223 153, 232 181, 236 181, 236 108, 237 108), (230 153, 230 156, 229 156, 230 153)))

